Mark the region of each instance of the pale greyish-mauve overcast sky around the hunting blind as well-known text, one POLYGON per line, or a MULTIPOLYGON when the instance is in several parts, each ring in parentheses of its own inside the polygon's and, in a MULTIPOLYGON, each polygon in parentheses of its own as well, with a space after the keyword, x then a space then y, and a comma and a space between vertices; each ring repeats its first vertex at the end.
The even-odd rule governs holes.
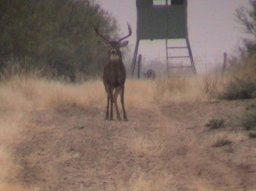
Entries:
MULTIPOLYGON (((121 34, 127 33, 129 22, 133 35, 129 37, 132 50, 136 42, 136 0, 96 0, 104 10, 116 17, 121 34)), ((249 0, 188 0, 188 37, 195 60, 216 60, 223 52, 234 54, 243 36, 234 20, 235 10, 247 6, 249 0)), ((165 60, 165 43, 142 41, 139 54, 148 59, 165 60)))

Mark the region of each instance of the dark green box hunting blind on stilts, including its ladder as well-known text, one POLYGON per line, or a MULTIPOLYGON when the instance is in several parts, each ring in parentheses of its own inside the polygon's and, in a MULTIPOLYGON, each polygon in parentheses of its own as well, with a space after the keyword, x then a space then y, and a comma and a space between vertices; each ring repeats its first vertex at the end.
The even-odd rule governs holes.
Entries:
POLYGON ((188 41, 187 0, 137 0, 137 41, 133 55, 133 74, 140 40, 165 39, 166 65, 191 67, 196 73, 188 41), (171 46, 168 39, 185 39, 185 46, 171 46), (186 55, 172 55, 169 50, 186 49, 186 55), (189 58, 190 65, 175 65, 175 59, 189 58))

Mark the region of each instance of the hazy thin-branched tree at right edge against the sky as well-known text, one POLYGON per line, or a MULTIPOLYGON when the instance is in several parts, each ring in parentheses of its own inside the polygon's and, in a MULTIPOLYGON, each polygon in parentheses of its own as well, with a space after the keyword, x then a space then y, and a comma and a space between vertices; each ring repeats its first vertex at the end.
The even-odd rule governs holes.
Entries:
POLYGON ((256 54, 256 0, 249 1, 250 9, 239 7, 236 9, 236 21, 242 25, 247 35, 243 39, 244 47, 240 47, 242 57, 250 57, 256 54))

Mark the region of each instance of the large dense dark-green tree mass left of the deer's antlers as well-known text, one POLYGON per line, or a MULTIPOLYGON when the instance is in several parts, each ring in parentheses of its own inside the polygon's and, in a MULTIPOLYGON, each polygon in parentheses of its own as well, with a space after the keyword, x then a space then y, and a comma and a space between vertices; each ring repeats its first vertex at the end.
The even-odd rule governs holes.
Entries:
POLYGON ((3 60, 32 60, 55 76, 98 74, 106 50, 93 27, 116 36, 116 20, 93 0, 1 0, 0 71, 3 60))

